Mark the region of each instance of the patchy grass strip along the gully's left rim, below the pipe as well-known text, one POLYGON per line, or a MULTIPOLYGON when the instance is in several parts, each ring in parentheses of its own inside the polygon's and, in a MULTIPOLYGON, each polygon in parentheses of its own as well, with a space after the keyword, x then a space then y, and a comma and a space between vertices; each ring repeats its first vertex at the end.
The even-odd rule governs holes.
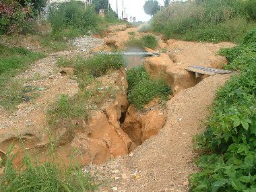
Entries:
POLYGON ((122 55, 94 55, 86 60, 77 58, 75 61, 70 61, 61 59, 58 63, 75 68, 80 90, 73 98, 61 96, 55 106, 49 110, 49 124, 53 127, 73 128, 76 125, 74 119, 86 121, 89 117, 88 110, 115 94, 111 86, 102 90, 102 84, 96 78, 124 66, 122 55))

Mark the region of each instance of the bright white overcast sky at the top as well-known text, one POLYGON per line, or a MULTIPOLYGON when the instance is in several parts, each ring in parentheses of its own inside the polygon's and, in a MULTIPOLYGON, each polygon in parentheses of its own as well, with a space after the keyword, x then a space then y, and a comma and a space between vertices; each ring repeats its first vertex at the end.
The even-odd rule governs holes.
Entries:
MULTIPOLYGON (((109 3, 114 11, 117 10, 118 4, 119 18, 121 18, 123 4, 123 7, 125 7, 125 15, 128 14, 128 18, 135 16, 136 21, 148 22, 151 17, 144 12, 143 5, 145 1, 147 0, 109 0, 109 3)), ((158 3, 164 5, 164 0, 158 0, 158 3)))

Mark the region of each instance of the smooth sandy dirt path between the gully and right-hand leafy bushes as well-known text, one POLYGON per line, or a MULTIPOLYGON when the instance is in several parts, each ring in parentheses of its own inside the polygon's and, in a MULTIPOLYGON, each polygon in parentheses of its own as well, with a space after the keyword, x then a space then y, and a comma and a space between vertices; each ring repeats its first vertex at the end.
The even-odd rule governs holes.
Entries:
POLYGON ((193 88, 179 92, 167 104, 164 128, 145 141, 133 154, 101 167, 90 166, 103 181, 112 178, 102 191, 188 191, 188 176, 195 172, 192 137, 203 130, 207 108, 218 87, 230 75, 214 75, 193 88), (117 188, 115 188, 117 187, 117 188), (116 190, 117 189, 117 190, 116 190))

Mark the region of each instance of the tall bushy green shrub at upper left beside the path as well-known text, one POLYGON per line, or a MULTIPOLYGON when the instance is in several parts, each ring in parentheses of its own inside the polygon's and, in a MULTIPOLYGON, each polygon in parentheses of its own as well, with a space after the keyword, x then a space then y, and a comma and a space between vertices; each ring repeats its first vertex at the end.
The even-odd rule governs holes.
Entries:
POLYGON ((93 6, 84 8, 79 1, 60 3, 57 10, 49 15, 55 38, 75 38, 89 30, 98 31, 102 22, 93 6))

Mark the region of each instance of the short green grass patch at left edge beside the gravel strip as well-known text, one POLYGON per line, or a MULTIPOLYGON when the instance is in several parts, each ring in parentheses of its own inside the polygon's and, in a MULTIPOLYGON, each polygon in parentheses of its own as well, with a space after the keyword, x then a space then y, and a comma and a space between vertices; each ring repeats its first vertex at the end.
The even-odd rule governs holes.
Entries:
POLYGON ((24 82, 13 77, 44 56, 24 48, 11 48, 0 44, 0 104, 4 108, 13 110, 24 101, 24 82))

